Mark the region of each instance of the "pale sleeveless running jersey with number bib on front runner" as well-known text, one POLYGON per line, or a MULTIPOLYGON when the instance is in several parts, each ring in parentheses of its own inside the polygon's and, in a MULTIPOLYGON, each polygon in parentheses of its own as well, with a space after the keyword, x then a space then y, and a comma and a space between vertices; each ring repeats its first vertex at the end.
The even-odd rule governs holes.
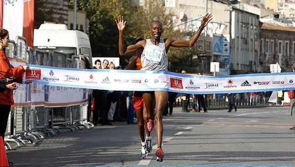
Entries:
POLYGON ((164 39, 160 39, 158 45, 146 40, 146 46, 141 55, 143 68, 141 70, 149 71, 168 71, 168 56, 166 54, 164 39))

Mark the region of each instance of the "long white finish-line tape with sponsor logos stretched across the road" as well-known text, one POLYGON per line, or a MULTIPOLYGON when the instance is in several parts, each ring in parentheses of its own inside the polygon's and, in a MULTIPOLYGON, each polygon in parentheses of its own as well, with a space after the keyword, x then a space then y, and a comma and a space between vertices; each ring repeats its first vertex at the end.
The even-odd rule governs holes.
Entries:
POLYGON ((41 71, 40 79, 33 80, 33 83, 50 86, 126 91, 166 90, 191 94, 222 94, 295 89, 295 73, 291 72, 212 77, 163 71, 29 66, 31 69, 41 71))

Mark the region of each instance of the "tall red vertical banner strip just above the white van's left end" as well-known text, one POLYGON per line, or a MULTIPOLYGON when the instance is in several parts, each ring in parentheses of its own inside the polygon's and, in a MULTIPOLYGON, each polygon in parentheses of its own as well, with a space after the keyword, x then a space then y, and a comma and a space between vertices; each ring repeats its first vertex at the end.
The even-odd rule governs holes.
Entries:
POLYGON ((34 36, 34 8, 35 0, 24 1, 24 28, 23 37, 27 39, 27 45, 33 48, 33 36, 34 36))

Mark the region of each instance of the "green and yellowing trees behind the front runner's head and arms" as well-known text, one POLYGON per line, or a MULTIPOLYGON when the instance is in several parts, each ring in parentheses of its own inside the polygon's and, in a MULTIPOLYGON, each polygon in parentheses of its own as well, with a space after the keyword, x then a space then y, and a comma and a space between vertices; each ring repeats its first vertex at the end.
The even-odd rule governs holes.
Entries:
MULTIPOLYGON (((115 22, 118 15, 127 21, 124 32, 125 45, 134 44, 139 37, 149 38, 149 27, 155 20, 164 26, 163 37, 181 39, 187 36, 184 32, 174 31, 172 16, 167 11, 163 0, 145 0, 143 6, 132 0, 77 0, 78 10, 87 12, 89 19, 89 39, 93 56, 119 56, 118 28, 115 22)), ((74 7, 74 0, 69 1, 69 8, 74 7)), ((193 48, 172 48, 169 53, 171 71, 194 71, 192 63, 193 48)), ((128 63, 133 55, 119 56, 122 66, 128 63)))

